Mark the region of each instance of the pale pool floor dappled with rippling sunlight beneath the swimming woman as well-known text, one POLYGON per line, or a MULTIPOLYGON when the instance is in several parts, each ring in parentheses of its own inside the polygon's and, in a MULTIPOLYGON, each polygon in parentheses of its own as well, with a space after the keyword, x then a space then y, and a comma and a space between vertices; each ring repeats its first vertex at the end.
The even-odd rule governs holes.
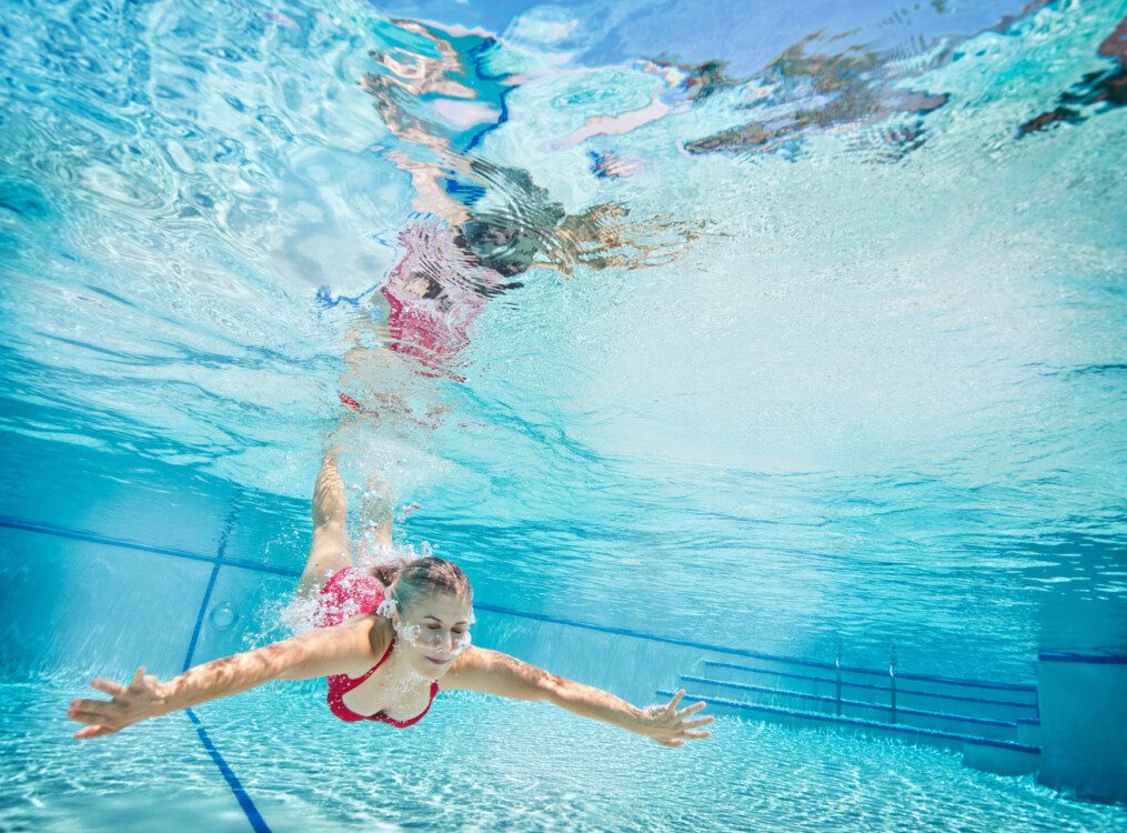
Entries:
MULTIPOLYGON (((82 684, 0 685, 0 828, 254 830, 177 714, 70 741, 82 684)), ((282 684, 195 714, 259 830, 1121 831, 1127 808, 1076 801, 958 755, 722 718, 659 747, 543 703, 441 695, 408 730, 346 726, 282 684)))

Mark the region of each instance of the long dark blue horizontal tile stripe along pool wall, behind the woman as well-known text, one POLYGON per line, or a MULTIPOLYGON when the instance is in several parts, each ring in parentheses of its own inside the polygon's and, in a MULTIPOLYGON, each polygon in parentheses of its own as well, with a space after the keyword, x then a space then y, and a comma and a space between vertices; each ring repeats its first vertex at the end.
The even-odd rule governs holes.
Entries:
MULTIPOLYGON (((144 552, 154 552, 163 556, 172 556, 175 558, 189 558, 195 561, 207 561, 208 564, 214 564, 216 559, 212 556, 201 556, 195 552, 188 552, 186 550, 177 550, 165 547, 150 547, 148 544, 137 543, 135 541, 127 541, 125 539, 108 538, 106 535, 100 535, 92 532, 85 532, 81 530, 69 530, 62 526, 54 526, 53 524, 38 523, 34 521, 24 521, 21 519, 9 517, 6 515, 0 515, 0 526, 10 526, 18 530, 28 530, 32 532, 42 532, 45 534, 60 535, 62 538, 73 538, 81 541, 91 541, 94 543, 103 543, 110 547, 124 547, 127 549, 141 550, 144 552)), ((283 567, 273 567, 264 564, 256 564, 255 561, 248 561, 242 558, 224 558, 223 564, 229 567, 239 567, 240 569, 255 570, 258 573, 270 573, 277 576, 289 576, 296 578, 301 575, 298 570, 285 569, 283 567)), ((594 622, 580 622, 575 619, 565 619, 562 617, 548 615, 545 613, 529 613, 522 610, 514 610, 513 608, 503 608, 496 604, 474 604, 474 609, 485 610, 491 613, 500 613, 503 615, 517 617, 520 619, 532 619, 534 621, 548 622, 550 624, 566 624, 571 628, 582 628, 584 630, 594 630, 602 633, 613 633, 616 636, 631 637, 633 639, 646 639, 651 643, 664 643, 666 645, 677 645, 684 648, 696 648, 699 650, 708 650, 717 654, 731 654, 734 656, 751 657, 752 659, 769 659, 782 663, 789 663, 791 665, 801 665, 807 667, 822 667, 822 668, 833 668, 833 663, 822 663, 810 659, 798 659, 796 657, 778 656, 775 654, 762 654, 760 652, 746 650, 744 648, 728 648, 720 645, 709 645, 708 643, 696 643, 689 639, 676 639, 674 637, 665 637, 657 633, 647 633, 640 630, 631 630, 629 628, 615 628, 607 624, 596 624, 594 622)), ((888 672, 885 671, 873 671, 871 668, 859 668, 854 666, 842 666, 842 671, 854 671, 863 674, 875 674, 884 676, 888 672)), ((923 682, 937 682, 937 683, 948 683, 952 685, 965 685, 970 688, 982 688, 982 689, 1000 689, 1008 691, 1029 691, 1036 692, 1036 685, 1028 684, 1011 684, 1011 683, 992 683, 982 680, 964 680, 960 677, 946 677, 946 676, 932 676, 929 674, 904 674, 897 673, 897 679, 899 680, 917 680, 923 682)))

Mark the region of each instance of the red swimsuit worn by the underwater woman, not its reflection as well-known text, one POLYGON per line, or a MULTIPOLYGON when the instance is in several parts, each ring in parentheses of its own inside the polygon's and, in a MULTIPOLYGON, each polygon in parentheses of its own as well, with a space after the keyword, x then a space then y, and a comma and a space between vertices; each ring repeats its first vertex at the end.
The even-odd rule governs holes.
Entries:
MULTIPOLYGON (((382 601, 383 585, 374 576, 370 576, 355 567, 345 567, 332 574, 332 577, 321 587, 321 595, 318 600, 317 612, 313 614, 313 622, 318 628, 332 628, 358 613, 371 613, 382 601)), ((334 674, 326 677, 329 681, 329 710, 334 715, 348 723, 380 720, 399 729, 406 729, 408 726, 414 726, 423 719, 423 716, 431 710, 431 702, 434 702, 434 695, 438 693, 437 680, 431 683, 431 702, 423 709, 421 715, 412 717, 410 720, 396 720, 382 711, 375 715, 357 715, 345 706, 344 695, 372 676, 372 673, 391 656, 393 647, 394 640, 383 652, 380 662, 369 668, 364 676, 354 679, 347 674, 334 674)))

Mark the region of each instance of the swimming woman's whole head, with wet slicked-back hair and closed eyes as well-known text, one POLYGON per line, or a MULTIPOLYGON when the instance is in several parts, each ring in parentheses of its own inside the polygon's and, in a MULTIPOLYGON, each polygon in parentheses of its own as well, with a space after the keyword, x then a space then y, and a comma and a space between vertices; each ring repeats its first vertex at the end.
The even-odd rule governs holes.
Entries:
MULTIPOLYGON (((470 643, 473 588, 462 569, 427 556, 402 565, 379 565, 375 577, 394 602, 390 618, 397 645, 424 676, 438 677, 470 643)), ((390 606, 390 605, 389 605, 390 606)))

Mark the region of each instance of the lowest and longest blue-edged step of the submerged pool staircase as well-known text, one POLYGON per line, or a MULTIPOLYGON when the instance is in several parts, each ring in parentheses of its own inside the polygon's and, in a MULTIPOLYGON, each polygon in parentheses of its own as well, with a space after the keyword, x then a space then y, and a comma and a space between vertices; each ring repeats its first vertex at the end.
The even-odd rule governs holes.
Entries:
MULTIPOLYGON (((703 700, 713 712, 731 714, 756 720, 783 723, 790 726, 823 726, 845 730, 862 732, 868 736, 889 737, 908 743, 924 743, 962 752, 966 765, 999 774, 1026 774, 1036 772, 1040 762, 1040 748, 1035 745, 978 734, 933 729, 923 726, 907 726, 870 720, 860 717, 827 714, 822 710, 786 708, 777 704, 746 702, 743 700, 704 693, 696 688, 686 689, 685 701, 703 700)), ((673 697, 673 691, 659 690, 658 697, 673 697)))

